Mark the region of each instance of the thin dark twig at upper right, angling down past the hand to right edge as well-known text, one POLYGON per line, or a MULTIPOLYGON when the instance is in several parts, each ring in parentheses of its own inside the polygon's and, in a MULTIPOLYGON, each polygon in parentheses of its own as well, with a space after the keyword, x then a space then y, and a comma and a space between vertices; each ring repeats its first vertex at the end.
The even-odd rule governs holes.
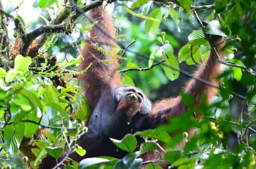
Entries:
POLYGON ((197 12, 195 10, 193 10, 193 14, 196 17, 199 26, 202 28, 204 36, 205 36, 206 40, 209 42, 211 50, 214 52, 214 55, 216 56, 217 61, 220 62, 221 64, 225 64, 225 65, 228 65, 228 66, 239 67, 241 69, 244 69, 244 70, 248 71, 251 75, 255 76, 254 70, 252 70, 249 67, 246 67, 246 66, 243 66, 243 65, 238 65, 238 64, 230 62, 230 61, 223 61, 223 60, 221 60, 220 56, 219 56, 219 54, 218 54, 218 52, 217 52, 217 50, 215 48, 214 43, 211 41, 210 36, 205 33, 205 28, 203 26, 203 23, 200 20, 197 12))

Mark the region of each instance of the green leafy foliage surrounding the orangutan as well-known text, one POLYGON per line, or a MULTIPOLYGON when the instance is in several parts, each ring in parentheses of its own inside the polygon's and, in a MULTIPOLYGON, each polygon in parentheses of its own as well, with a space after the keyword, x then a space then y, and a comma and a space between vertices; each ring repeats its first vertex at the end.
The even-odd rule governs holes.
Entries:
MULTIPOLYGON (((41 13, 40 18, 50 24, 58 16, 59 10, 69 9, 70 4, 65 3, 40 0, 35 3, 35 8, 47 9, 48 13, 41 13)), ((186 0, 175 4, 137 0, 130 4, 120 3, 123 8, 115 7, 119 12, 115 20, 127 24, 117 24, 117 39, 129 42, 136 38, 136 44, 129 49, 149 56, 143 60, 127 52, 125 57, 120 57, 120 69, 150 69, 124 73, 122 83, 136 84, 145 93, 151 93, 152 99, 173 92, 181 95, 184 104, 193 107, 194 100, 190 95, 177 93, 175 88, 166 91, 169 88, 161 86, 167 84, 168 80, 179 83, 183 68, 194 70, 190 65, 205 61, 211 46, 204 33, 227 37, 224 49, 226 60, 255 70, 254 1, 197 1, 194 4, 186 0), (215 10, 204 9, 200 13, 200 18, 209 20, 205 30, 202 30, 193 18, 195 9, 191 4, 199 6, 211 3, 215 5, 215 10), (154 67, 159 61, 163 61, 163 64, 154 67)), ((79 7, 85 5, 78 1, 79 7)), ((31 29, 25 27, 27 23, 15 12, 25 31, 31 29)), ((86 154, 86 150, 76 141, 87 132, 84 121, 90 113, 90 105, 80 93, 75 77, 90 68, 76 70, 80 58, 79 47, 84 44, 82 35, 87 36, 92 25, 86 25, 83 19, 69 19, 66 21, 76 26, 74 33, 71 36, 50 33, 34 58, 15 55, 12 61, 5 58, 7 51, 0 49, 0 166, 4 168, 14 164, 14 155, 17 155, 18 149, 23 149, 24 144, 31 145, 31 151, 25 155, 29 157, 32 168, 36 168, 47 155, 57 159, 66 151, 64 147, 67 154, 86 154), (74 38, 77 32, 79 37, 74 38), (71 57, 75 53, 78 53, 78 57, 71 57), (57 61, 50 57, 52 55, 58 56, 57 61)), ((35 28, 42 20, 32 22, 32 27, 35 28)), ((14 37, 13 42, 18 43, 18 36, 14 37)), ((108 54, 98 44, 92 45, 108 54)), ((117 49, 119 51, 120 47, 117 49)), ((161 168, 156 163, 161 161, 167 162, 170 168, 253 168, 256 90, 255 73, 253 75, 253 70, 250 72, 225 66, 224 73, 218 77, 222 81, 219 93, 210 105, 202 99, 200 106, 169 119, 167 124, 157 129, 127 134, 121 140, 111 138, 118 149, 127 152, 122 159, 95 157, 84 159, 79 165, 69 159, 65 168, 161 168), (236 98, 237 92, 245 96, 242 102, 236 98), (200 112, 201 119, 192 118, 194 112, 200 112), (196 135, 189 138, 191 128, 196 135), (141 140, 143 143, 138 147, 141 140), (148 152, 153 153, 155 159, 143 161, 141 155, 148 152)), ((23 167, 28 167, 27 162, 23 160, 23 167)), ((15 163, 12 167, 16 164, 19 165, 15 163)))

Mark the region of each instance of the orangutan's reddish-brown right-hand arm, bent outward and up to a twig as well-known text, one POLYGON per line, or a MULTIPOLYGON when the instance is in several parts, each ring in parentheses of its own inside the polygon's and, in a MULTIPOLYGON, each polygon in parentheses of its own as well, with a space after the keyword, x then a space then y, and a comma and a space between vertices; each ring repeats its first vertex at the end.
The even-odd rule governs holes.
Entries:
MULTIPOLYGON (((214 41, 219 56, 221 59, 224 59, 225 51, 222 49, 225 46, 225 38, 214 36, 212 37, 212 40, 214 41)), ((208 60, 206 63, 198 67, 194 76, 217 86, 218 82, 216 81, 216 77, 220 74, 220 72, 221 63, 217 61, 214 52, 210 51, 208 60)), ((197 81, 196 79, 191 79, 183 91, 193 96, 195 106, 199 106, 202 94, 206 94, 207 103, 209 103, 213 96, 217 93, 217 88, 211 87, 197 81)), ((156 102, 153 105, 152 112, 140 119, 139 123, 141 123, 143 126, 140 129, 155 128, 157 125, 165 123, 169 117, 180 115, 187 109, 189 109, 189 107, 182 103, 180 96, 177 98, 169 98, 156 102), (148 124, 151 124, 150 127, 148 127, 148 124)))

